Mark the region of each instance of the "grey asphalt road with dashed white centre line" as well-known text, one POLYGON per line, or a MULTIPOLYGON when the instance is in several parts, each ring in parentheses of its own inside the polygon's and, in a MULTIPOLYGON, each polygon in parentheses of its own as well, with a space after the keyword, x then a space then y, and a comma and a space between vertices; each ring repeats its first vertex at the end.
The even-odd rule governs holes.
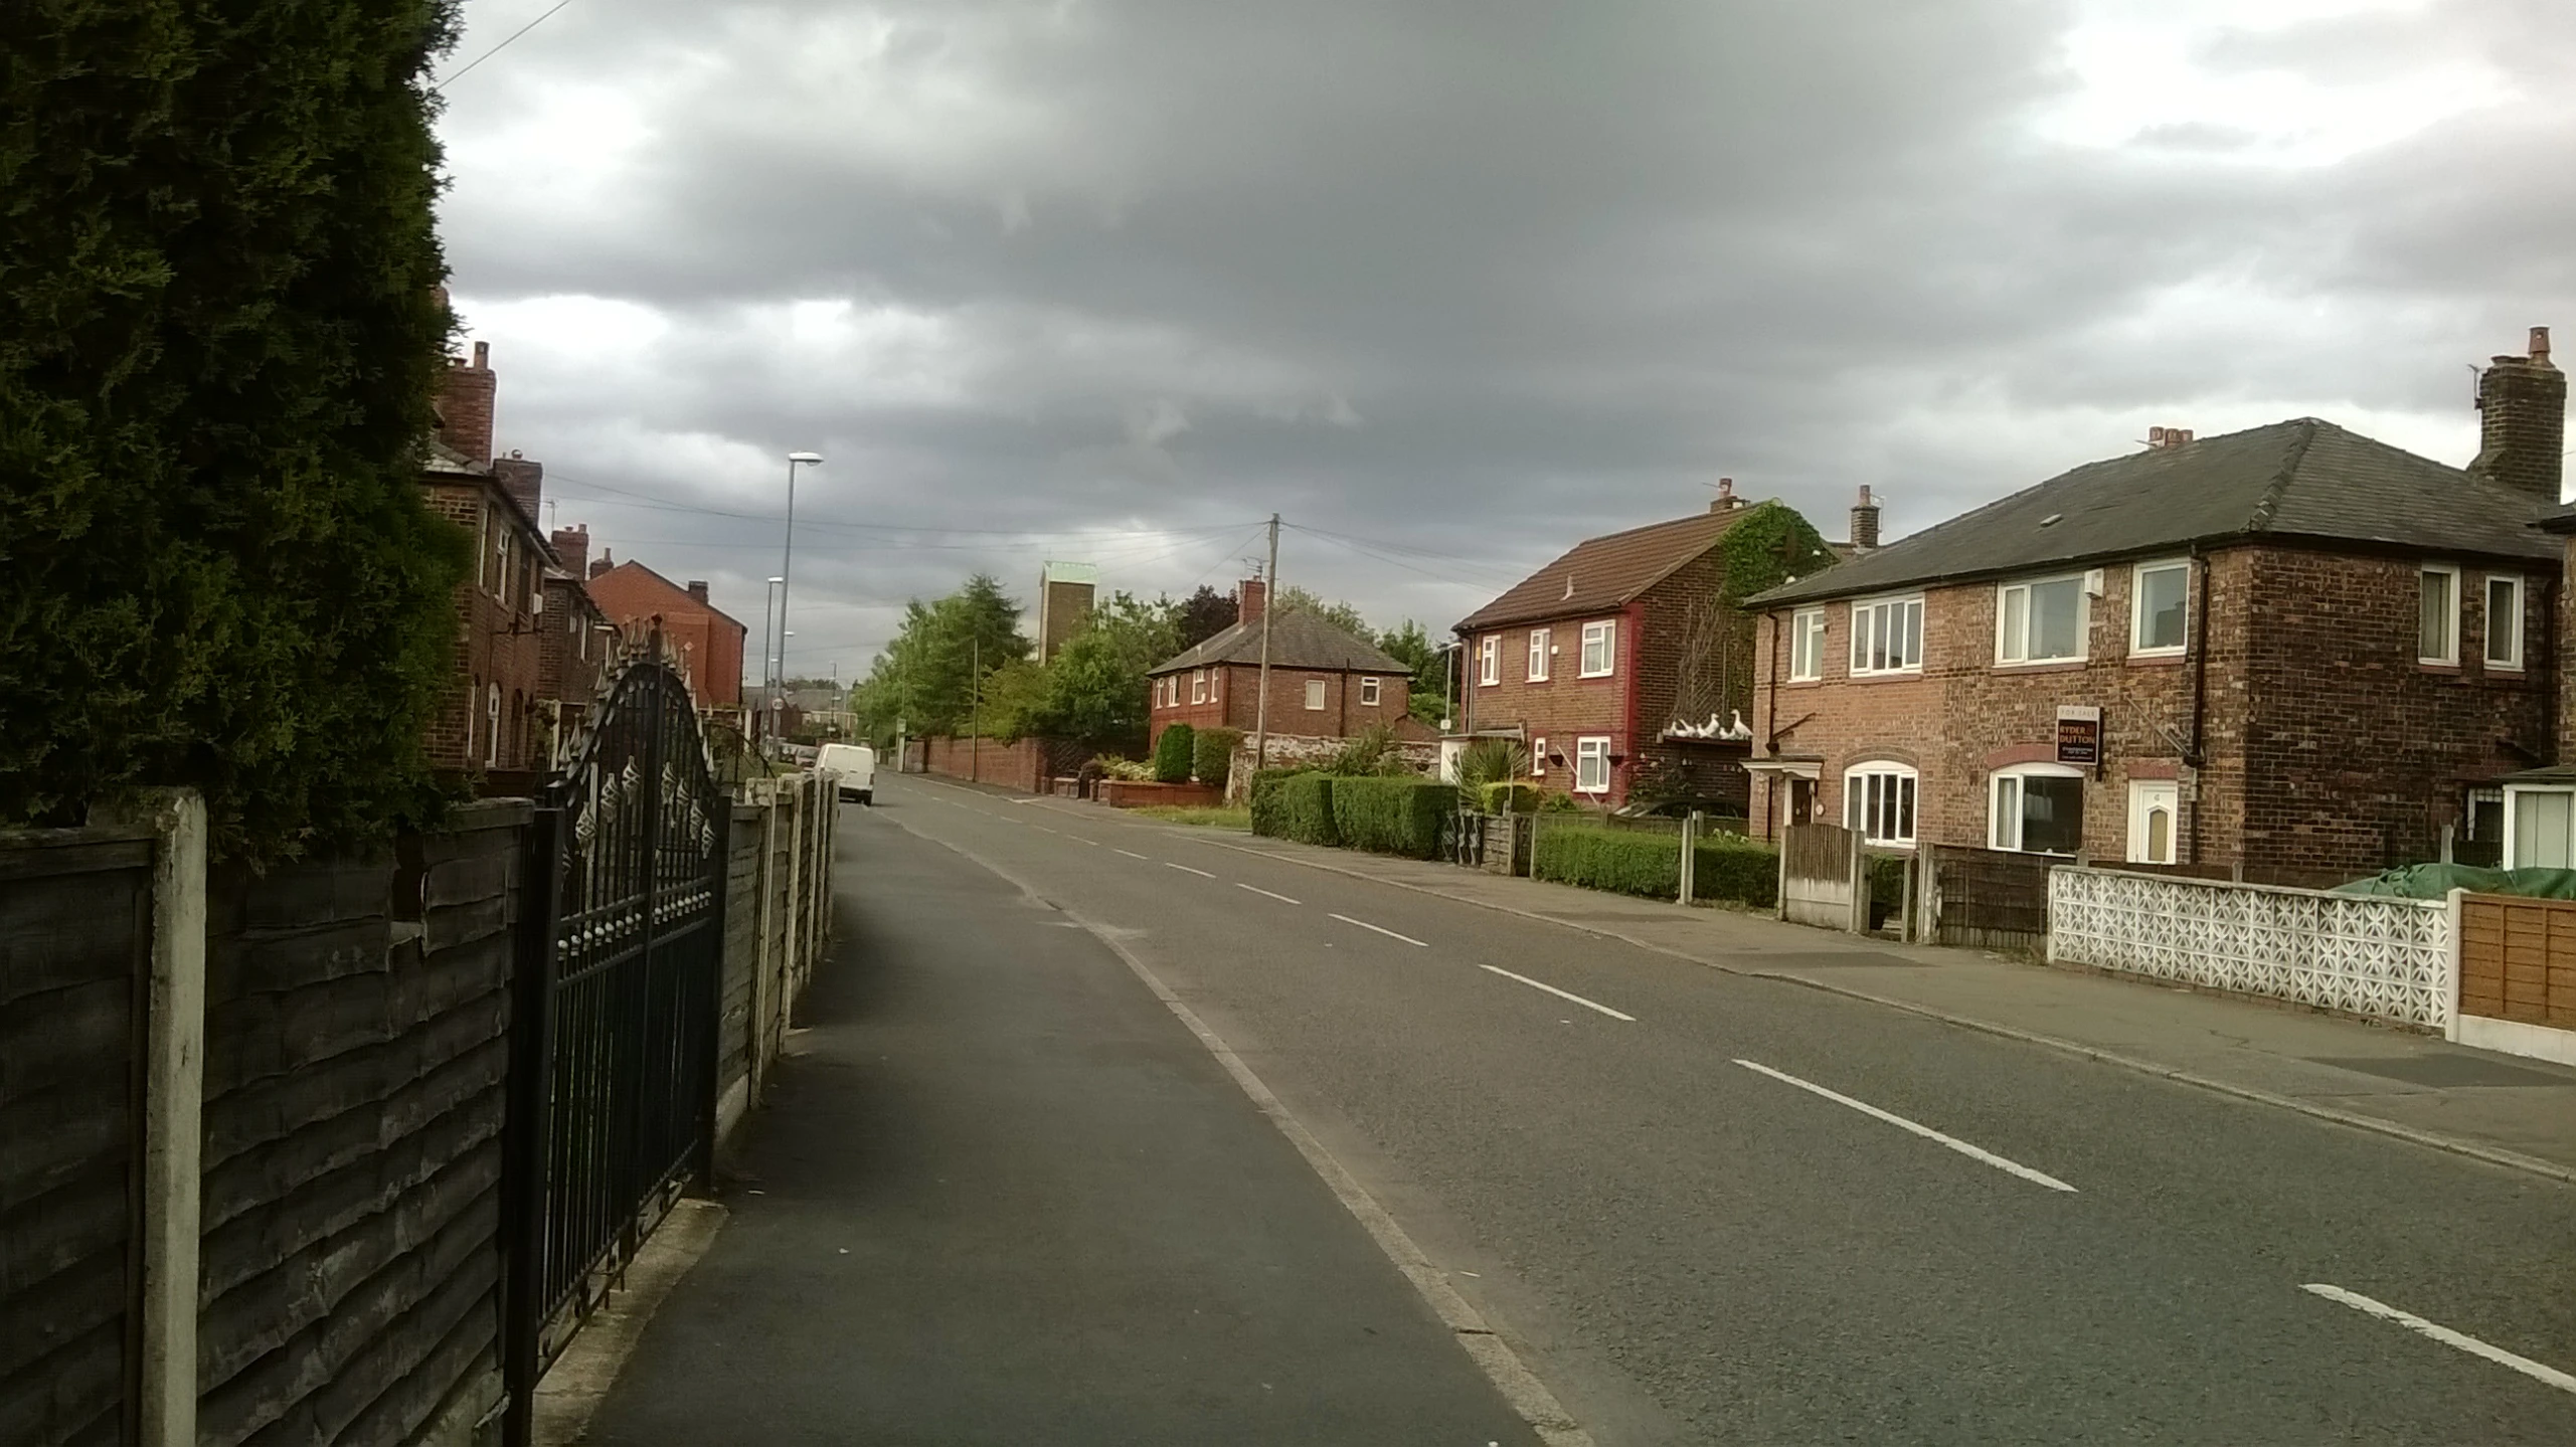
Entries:
POLYGON ((2576 1442, 2568 1187, 1216 832, 845 829, 1115 937, 1605 1444, 2576 1442))

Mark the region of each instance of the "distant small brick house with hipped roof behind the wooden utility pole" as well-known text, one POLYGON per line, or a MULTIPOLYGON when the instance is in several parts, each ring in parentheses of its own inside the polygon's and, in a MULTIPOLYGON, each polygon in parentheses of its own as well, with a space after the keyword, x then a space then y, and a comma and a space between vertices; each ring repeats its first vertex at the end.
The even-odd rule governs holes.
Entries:
POLYGON ((1262 628, 1270 631, 1270 734, 1347 739, 1370 724, 1427 736, 1406 713, 1414 669, 1368 639, 1303 610, 1275 618, 1262 579, 1236 590, 1234 626, 1146 669, 1151 739, 1172 724, 1242 729, 1260 716, 1262 628))

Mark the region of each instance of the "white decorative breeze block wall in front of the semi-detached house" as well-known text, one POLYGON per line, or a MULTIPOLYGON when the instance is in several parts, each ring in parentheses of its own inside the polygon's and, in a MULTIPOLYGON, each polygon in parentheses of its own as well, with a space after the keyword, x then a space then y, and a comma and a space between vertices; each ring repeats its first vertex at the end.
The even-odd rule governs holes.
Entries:
POLYGON ((2445 1030, 2450 904, 2048 870, 2048 958, 2445 1030))

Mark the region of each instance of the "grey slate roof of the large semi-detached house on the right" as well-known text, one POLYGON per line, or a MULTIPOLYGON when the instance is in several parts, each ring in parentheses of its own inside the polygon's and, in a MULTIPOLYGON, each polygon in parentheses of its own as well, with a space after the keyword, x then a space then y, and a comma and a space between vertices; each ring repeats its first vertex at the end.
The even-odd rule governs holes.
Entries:
POLYGON ((2555 510, 2555 499, 2298 417, 2084 463, 1749 602, 1850 597, 2236 538, 2558 561, 2558 541, 2535 528, 2555 510))

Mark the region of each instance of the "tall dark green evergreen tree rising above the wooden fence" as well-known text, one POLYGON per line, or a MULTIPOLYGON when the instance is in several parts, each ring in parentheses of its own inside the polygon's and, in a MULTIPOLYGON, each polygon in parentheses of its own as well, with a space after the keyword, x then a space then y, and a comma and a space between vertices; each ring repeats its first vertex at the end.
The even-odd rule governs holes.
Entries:
POLYGON ((0 824, 196 785, 219 852, 281 857, 435 808, 453 36, 453 0, 0 5, 0 824))

